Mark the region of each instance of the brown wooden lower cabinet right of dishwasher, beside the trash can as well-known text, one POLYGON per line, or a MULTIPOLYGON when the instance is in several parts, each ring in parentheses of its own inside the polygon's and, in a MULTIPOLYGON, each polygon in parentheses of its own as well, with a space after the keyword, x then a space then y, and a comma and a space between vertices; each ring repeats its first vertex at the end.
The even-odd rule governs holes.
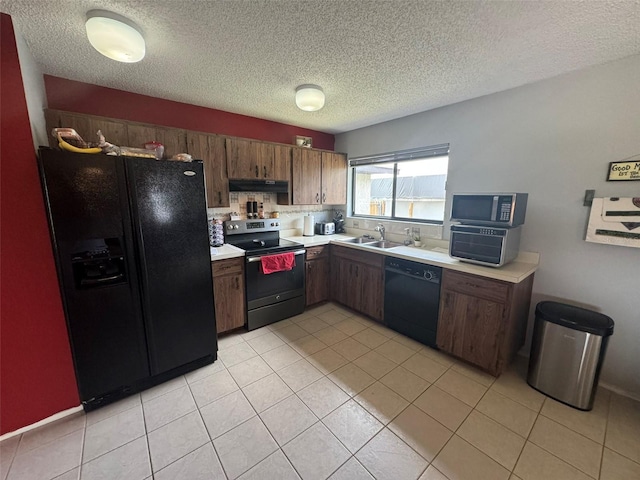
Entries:
POLYGON ((438 347, 500 375, 523 345, 533 274, 520 283, 444 270, 438 347))

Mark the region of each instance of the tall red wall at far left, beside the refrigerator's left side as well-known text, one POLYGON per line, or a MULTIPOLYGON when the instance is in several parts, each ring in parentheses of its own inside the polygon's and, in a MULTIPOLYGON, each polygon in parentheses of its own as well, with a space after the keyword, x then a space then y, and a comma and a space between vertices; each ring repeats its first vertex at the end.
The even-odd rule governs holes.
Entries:
POLYGON ((80 404, 11 17, 1 15, 0 434, 80 404))

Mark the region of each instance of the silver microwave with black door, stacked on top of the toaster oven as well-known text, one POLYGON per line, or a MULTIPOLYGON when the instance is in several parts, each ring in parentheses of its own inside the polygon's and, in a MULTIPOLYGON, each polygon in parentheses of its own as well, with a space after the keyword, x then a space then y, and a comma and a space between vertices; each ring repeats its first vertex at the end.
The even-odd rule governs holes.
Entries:
POLYGON ((454 193, 451 221, 517 227, 524 223, 528 196, 526 193, 454 193))

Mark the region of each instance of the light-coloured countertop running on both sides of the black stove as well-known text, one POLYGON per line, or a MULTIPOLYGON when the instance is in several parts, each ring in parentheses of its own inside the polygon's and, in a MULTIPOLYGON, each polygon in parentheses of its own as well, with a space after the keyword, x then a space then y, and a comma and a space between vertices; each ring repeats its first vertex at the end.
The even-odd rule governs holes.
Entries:
MULTIPOLYGON (((347 240, 355 237, 354 235, 348 234, 313 235, 309 237, 305 237, 302 235, 292 235, 283 236, 282 238, 291 240, 292 242, 301 243, 305 247, 316 247, 334 243, 336 245, 354 248, 356 250, 374 252, 380 255, 402 258, 418 263, 425 263, 437 267, 448 268, 450 270, 455 270, 458 272, 470 273, 473 275, 479 275, 482 277, 493 278, 496 280, 502 280, 511 283, 519 283, 529 275, 534 273, 538 269, 538 262, 540 259, 540 256, 537 253, 520 252, 520 255, 518 255, 518 257, 514 261, 500 268, 493 268, 455 260, 451 258, 447 250, 442 247, 434 248, 429 246, 400 246, 385 250, 377 247, 367 246, 366 244, 349 243, 347 240)), ((212 250, 213 249, 214 248, 212 247, 212 250)), ((229 244, 225 244, 222 247, 215 247, 215 250, 217 250, 217 254, 211 254, 212 261, 244 256, 244 250, 229 244)))

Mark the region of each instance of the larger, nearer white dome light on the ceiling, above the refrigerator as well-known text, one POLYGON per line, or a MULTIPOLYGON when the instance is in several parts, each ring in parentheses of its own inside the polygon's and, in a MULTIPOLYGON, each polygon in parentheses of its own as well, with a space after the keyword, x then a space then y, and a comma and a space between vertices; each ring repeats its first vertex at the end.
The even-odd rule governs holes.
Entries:
POLYGON ((106 10, 91 10, 85 26, 89 42, 105 57, 125 63, 144 58, 144 38, 131 20, 106 10))

